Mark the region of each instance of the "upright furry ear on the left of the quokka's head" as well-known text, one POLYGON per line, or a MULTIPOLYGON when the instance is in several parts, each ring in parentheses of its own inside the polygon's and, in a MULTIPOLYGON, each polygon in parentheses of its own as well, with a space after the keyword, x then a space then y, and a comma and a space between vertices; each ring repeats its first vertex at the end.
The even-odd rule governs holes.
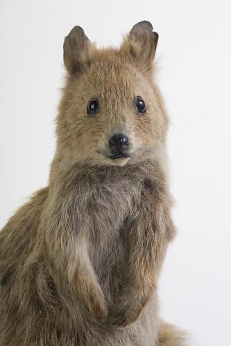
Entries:
POLYGON ((74 26, 63 44, 63 60, 70 74, 85 69, 89 63, 89 51, 92 44, 85 35, 83 28, 74 26))

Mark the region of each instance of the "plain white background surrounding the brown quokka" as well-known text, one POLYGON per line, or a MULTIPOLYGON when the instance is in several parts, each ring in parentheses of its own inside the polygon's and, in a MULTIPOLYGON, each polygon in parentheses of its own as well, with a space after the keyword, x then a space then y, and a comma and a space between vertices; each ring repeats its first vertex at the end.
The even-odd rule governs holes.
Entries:
POLYGON ((197 345, 231 345, 230 1, 1 0, 0 6, 0 226, 47 183, 65 35, 78 24, 98 46, 118 45, 137 21, 151 21, 172 120, 178 226, 160 282, 162 316, 191 332, 197 345))

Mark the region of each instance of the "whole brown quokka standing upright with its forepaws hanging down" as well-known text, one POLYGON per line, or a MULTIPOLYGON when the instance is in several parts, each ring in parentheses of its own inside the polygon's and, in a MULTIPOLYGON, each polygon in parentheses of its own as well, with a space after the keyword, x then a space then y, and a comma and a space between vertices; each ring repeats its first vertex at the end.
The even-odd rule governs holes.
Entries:
POLYGON ((158 316, 176 230, 157 40, 148 21, 119 48, 65 38, 49 184, 0 233, 1 346, 186 345, 158 316))

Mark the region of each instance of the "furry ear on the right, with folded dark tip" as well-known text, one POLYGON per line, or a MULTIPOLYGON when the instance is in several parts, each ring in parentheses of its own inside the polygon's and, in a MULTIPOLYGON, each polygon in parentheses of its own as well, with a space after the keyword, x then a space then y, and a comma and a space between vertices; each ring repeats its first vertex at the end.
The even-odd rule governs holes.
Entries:
POLYGON ((153 26, 149 21, 139 21, 130 30, 122 49, 130 55, 132 60, 150 69, 155 57, 159 35, 153 32, 153 26))

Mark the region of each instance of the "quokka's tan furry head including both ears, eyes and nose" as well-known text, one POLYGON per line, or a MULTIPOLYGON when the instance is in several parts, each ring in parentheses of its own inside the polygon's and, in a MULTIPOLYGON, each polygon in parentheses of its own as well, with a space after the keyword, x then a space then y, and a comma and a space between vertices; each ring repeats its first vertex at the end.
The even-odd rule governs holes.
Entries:
POLYGON ((158 35, 148 21, 119 48, 96 48, 80 26, 64 42, 67 84, 58 116, 58 152, 75 163, 126 165, 164 147, 168 118, 153 81, 158 35))

